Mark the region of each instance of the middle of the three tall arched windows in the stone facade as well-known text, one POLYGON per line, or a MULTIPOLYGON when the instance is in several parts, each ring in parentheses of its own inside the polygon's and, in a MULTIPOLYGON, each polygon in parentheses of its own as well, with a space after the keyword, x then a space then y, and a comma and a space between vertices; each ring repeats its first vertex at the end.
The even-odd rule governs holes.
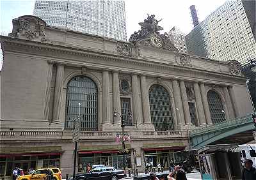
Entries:
POLYGON ((173 130, 173 116, 169 93, 157 84, 149 89, 149 103, 152 124, 156 131, 173 130))

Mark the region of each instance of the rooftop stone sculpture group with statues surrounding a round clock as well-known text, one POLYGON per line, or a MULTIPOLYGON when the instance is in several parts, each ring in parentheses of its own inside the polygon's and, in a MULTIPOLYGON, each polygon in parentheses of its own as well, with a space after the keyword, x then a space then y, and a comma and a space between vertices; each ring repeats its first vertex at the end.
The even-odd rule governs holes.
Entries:
POLYGON ((144 22, 140 22, 141 29, 138 32, 134 32, 129 38, 129 42, 134 45, 143 45, 156 47, 163 50, 178 51, 174 47, 172 41, 167 33, 160 34, 159 31, 163 30, 163 27, 158 26, 158 22, 155 15, 148 15, 144 22))

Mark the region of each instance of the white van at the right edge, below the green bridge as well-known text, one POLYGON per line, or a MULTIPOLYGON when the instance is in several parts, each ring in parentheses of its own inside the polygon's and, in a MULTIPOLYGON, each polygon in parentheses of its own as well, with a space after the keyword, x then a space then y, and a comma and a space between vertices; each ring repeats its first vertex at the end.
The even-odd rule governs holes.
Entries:
POLYGON ((253 167, 256 167, 256 153, 253 153, 256 151, 256 144, 243 144, 239 145, 238 150, 241 153, 241 161, 242 165, 244 165, 244 159, 250 159, 253 162, 253 167))

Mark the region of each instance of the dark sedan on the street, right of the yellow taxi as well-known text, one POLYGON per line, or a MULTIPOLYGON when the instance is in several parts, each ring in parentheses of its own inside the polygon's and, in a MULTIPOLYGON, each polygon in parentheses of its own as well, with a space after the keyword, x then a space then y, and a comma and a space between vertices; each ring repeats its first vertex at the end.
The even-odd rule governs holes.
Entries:
MULTIPOLYGON (((88 173, 76 174, 76 180, 99 179, 99 180, 117 180, 126 177, 124 170, 116 170, 113 167, 95 167, 88 173)), ((73 177, 70 177, 70 180, 73 177)))

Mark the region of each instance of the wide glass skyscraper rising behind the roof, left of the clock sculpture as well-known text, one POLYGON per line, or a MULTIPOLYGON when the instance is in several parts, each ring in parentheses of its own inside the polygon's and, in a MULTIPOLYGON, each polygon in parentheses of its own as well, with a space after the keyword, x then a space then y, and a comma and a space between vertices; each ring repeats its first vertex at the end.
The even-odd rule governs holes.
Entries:
POLYGON ((127 41, 124 1, 36 1, 34 15, 51 26, 127 41))

